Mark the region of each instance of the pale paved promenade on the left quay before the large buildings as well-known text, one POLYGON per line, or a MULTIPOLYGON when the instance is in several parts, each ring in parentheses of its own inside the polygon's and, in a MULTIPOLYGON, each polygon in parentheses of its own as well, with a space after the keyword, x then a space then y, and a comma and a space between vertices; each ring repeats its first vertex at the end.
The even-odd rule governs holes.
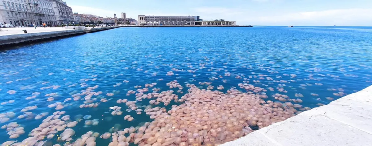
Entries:
POLYGON ((61 31, 61 30, 72 30, 71 28, 62 27, 14 27, 14 28, 1 28, 0 35, 12 35, 12 34, 24 34, 22 30, 27 30, 27 33, 43 33, 51 31, 61 31))

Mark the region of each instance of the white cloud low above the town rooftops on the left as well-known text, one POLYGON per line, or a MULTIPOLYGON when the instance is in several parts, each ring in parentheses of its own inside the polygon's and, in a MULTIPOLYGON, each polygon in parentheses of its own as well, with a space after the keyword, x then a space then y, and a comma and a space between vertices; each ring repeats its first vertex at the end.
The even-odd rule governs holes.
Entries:
MULTIPOLYGON (((79 14, 92 14, 100 17, 114 17, 115 12, 110 11, 110 10, 104 10, 104 9, 99 9, 99 8, 93 8, 93 7, 85 7, 85 6, 70 6, 73 10, 73 12, 77 12, 79 14)), ((116 14, 117 17, 120 14, 116 14)))

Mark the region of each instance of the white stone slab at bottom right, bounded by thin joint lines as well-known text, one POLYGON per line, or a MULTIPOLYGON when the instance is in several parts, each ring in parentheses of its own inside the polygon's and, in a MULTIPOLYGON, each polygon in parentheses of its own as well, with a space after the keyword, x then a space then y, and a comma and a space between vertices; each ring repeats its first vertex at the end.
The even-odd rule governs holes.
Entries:
POLYGON ((324 115, 303 112, 260 129, 283 146, 369 146, 372 135, 324 115))

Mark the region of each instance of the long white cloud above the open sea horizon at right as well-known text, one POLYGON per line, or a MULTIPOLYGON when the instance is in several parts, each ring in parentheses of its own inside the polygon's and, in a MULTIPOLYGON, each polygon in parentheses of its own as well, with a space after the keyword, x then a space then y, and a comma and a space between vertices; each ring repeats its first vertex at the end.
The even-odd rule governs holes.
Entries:
POLYGON ((296 25, 296 26, 371 26, 372 9, 335 9, 283 14, 279 16, 258 16, 241 20, 254 25, 296 25))

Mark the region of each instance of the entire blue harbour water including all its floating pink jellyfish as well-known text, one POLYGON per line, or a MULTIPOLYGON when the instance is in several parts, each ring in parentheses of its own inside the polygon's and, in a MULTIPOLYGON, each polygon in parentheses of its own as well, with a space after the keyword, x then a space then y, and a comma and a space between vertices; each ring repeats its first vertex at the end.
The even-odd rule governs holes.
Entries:
POLYGON ((117 28, 0 51, 0 143, 225 143, 371 85, 371 30, 117 28))

